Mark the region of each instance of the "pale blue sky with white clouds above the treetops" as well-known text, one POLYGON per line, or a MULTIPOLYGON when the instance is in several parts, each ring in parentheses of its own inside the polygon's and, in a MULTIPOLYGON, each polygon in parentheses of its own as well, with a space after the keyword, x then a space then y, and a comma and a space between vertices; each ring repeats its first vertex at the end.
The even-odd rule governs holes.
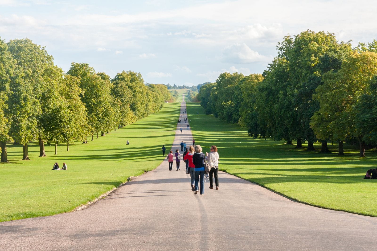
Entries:
POLYGON ((262 73, 284 36, 310 29, 377 39, 377 3, 349 0, 0 0, 2 40, 29 38, 64 71, 89 63, 111 78, 197 85, 222 72, 262 73))

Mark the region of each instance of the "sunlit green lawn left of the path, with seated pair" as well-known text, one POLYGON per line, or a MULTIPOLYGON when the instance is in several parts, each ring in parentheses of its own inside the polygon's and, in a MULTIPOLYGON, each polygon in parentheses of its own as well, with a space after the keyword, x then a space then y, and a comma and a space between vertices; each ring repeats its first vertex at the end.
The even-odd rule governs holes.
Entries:
POLYGON ((22 146, 8 145, 10 163, 0 164, 0 222, 71 211, 118 187, 129 176, 156 168, 170 149, 181 103, 165 104, 159 112, 132 125, 94 138, 88 144, 46 145, 40 158, 37 142, 29 144, 30 161, 22 161, 22 146), (126 145, 127 139, 130 145, 126 145), (51 171, 55 162, 66 171, 51 171))

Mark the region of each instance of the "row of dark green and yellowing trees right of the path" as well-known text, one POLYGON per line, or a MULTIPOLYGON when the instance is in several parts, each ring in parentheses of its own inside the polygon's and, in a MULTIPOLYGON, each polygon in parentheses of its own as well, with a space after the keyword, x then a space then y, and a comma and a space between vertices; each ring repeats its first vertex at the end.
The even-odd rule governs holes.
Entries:
POLYGON ((279 42, 263 74, 222 73, 201 87, 198 100, 223 121, 248 128, 250 136, 322 142, 357 140, 377 145, 377 41, 356 48, 329 32, 304 31, 279 42))

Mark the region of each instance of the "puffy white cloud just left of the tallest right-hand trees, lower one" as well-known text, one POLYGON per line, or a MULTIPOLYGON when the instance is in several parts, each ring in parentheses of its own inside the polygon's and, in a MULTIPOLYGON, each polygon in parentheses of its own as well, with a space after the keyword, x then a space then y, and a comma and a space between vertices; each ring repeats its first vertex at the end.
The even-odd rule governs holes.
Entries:
POLYGON ((268 58, 250 49, 247 44, 233 44, 222 51, 222 60, 235 64, 250 64, 266 61, 268 58))

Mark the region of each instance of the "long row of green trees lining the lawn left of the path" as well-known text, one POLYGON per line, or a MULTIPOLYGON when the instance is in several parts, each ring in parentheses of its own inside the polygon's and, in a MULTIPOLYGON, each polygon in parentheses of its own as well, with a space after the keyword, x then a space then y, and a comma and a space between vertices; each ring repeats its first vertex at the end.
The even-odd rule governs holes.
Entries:
POLYGON ((44 47, 29 39, 8 43, 0 39, 0 145, 7 162, 6 144, 86 142, 93 136, 158 112, 171 96, 162 84, 144 84, 140 73, 123 71, 110 79, 85 63, 72 63, 64 73, 44 47))

